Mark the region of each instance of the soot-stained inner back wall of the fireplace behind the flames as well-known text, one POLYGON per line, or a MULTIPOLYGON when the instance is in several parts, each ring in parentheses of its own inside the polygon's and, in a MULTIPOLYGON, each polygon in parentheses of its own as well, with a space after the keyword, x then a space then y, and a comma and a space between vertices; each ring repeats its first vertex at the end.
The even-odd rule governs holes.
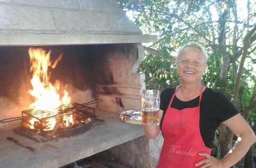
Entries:
MULTIPOLYGON (((27 109, 31 108, 30 104, 35 101, 35 97, 28 93, 34 87, 31 82, 33 73, 29 58, 30 47, 0 47, 2 64, 0 103, 3 104, 0 119, 18 117, 20 111, 23 111, 22 114, 27 113, 27 109)), ((99 108, 114 113, 130 109, 131 104, 134 104, 135 108, 140 108, 138 92, 141 89, 140 75, 131 73, 138 60, 137 44, 34 46, 34 48, 51 51, 52 64, 60 54, 62 55, 55 68, 48 66, 50 75, 47 74, 46 77, 50 76, 49 83, 56 84, 58 81, 58 91, 62 97, 65 97, 65 92, 70 95, 69 103, 83 104, 102 99, 103 102, 97 104, 99 108)), ((48 83, 42 84, 48 85, 48 83)), ((96 104, 92 107, 96 107, 96 104)), ((39 122, 39 125, 41 124, 42 122, 39 122)))

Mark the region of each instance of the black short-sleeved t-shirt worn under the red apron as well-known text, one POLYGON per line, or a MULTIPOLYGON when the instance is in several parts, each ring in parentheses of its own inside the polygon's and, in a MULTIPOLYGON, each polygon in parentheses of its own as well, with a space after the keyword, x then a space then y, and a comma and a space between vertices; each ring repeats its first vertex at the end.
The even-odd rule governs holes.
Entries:
MULTIPOLYGON (((162 91, 160 95, 160 109, 164 111, 163 118, 167 106, 172 98, 174 88, 167 88, 162 91)), ((181 101, 176 96, 174 97, 172 108, 183 109, 197 107, 199 104, 199 96, 193 100, 181 101)), ((204 144, 208 148, 213 148, 215 131, 219 124, 238 114, 238 110, 229 101, 229 99, 221 92, 213 91, 206 88, 202 94, 200 103, 200 133, 203 138, 204 144)), ((160 128, 162 127, 162 121, 160 128)))

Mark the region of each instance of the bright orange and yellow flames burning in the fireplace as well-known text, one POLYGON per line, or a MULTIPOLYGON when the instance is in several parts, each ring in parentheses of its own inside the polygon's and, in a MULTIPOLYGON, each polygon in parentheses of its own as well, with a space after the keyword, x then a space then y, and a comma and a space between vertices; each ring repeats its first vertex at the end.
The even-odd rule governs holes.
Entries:
MULTIPOLYGON (((29 90, 29 93, 35 97, 35 102, 33 102, 30 107, 33 110, 50 111, 50 113, 37 116, 40 119, 58 114, 59 111, 55 108, 58 108, 62 104, 71 103, 71 98, 66 90, 63 96, 60 96, 60 81, 56 80, 55 83, 50 82, 51 73, 48 68, 54 69, 62 58, 62 54, 60 54, 54 62, 51 62, 51 52, 51 50, 47 52, 42 48, 29 48, 30 62, 32 64, 30 71, 33 73, 31 79, 33 89, 29 90)), ((30 128, 34 129, 33 125, 35 122, 38 122, 38 120, 30 120, 30 128)), ((47 120, 44 130, 52 130, 56 122, 56 118, 47 120)), ((64 116, 62 122, 65 123, 66 126, 72 125, 72 115, 64 116)))

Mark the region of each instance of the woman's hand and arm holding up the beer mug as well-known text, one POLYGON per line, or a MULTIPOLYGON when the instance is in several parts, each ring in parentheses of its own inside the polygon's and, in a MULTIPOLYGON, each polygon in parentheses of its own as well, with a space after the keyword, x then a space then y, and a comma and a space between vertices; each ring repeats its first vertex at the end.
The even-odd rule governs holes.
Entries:
MULTIPOLYGON (((159 120, 161 121, 163 116, 163 111, 159 110, 159 120)), ((159 125, 143 125, 143 130, 147 138, 153 139, 156 138, 160 132, 159 125)))

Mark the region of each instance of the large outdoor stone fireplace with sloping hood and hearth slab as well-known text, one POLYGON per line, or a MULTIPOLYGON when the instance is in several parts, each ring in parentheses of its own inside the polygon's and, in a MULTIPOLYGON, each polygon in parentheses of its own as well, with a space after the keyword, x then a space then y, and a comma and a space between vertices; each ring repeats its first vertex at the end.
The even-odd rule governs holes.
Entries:
MULTIPOLYGON (((35 47, 51 50, 53 57, 63 54, 52 79, 67 86, 72 102, 102 99, 92 107, 105 122, 81 135, 44 143, 13 133, 20 120, 0 123, 0 167, 60 167, 121 144, 127 148, 138 139, 146 151, 140 163, 130 166, 156 165, 158 156, 152 153, 158 153, 154 146, 159 138, 148 140, 142 126, 119 119, 123 110, 140 110, 140 91, 145 89, 144 74, 137 73, 144 58, 141 43, 156 36, 142 35, 112 0, 2 0, 0 22, 0 120, 29 109, 28 49, 35 47), (8 141, 8 136, 36 152, 8 141)), ((138 151, 131 155, 127 158, 139 157, 138 151)))

